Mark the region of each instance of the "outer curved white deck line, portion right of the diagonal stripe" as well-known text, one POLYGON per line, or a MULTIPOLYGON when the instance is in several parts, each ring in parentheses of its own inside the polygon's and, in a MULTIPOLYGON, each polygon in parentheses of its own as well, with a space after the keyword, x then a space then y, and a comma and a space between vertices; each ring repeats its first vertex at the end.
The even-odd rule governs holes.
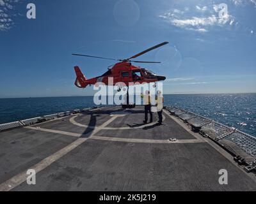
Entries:
POLYGON ((109 136, 90 136, 92 140, 107 140, 115 142, 133 142, 133 143, 205 143, 203 140, 176 140, 175 142, 170 142, 169 140, 150 140, 150 139, 134 139, 134 138, 114 138, 109 136))

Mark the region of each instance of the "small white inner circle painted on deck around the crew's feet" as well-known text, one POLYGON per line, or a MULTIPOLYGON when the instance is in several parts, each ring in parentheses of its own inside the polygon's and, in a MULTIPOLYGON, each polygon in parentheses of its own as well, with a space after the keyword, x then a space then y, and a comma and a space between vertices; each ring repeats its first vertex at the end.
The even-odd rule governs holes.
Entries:
MULTIPOLYGON (((87 125, 84 125, 84 124, 81 124, 79 122, 76 122, 75 118, 77 117, 78 115, 75 115, 74 117, 71 117, 69 119, 69 121, 76 125, 76 126, 80 126, 80 127, 83 127, 83 128, 90 128, 90 129, 94 129, 95 127, 97 126, 87 126, 87 125)), ((115 115, 116 116, 116 115, 115 115)), ((117 115, 118 117, 122 117, 120 115, 117 115)), ((165 116, 163 115, 163 121, 165 120, 165 116)), ((104 127, 102 129, 138 129, 138 128, 145 128, 145 127, 148 127, 148 126, 154 126, 155 124, 157 124, 157 122, 151 122, 151 123, 148 123, 148 124, 145 124, 145 125, 142 125, 142 126, 137 126, 137 127, 120 127, 120 128, 113 128, 113 127, 104 127)))

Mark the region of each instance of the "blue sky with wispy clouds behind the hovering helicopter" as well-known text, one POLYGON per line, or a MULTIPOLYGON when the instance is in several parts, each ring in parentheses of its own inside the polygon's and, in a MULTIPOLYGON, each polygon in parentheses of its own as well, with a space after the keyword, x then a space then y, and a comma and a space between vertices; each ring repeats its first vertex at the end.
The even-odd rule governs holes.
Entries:
POLYGON ((92 95, 73 67, 91 78, 113 62, 72 53, 124 59, 163 41, 138 57, 163 63, 138 65, 166 76, 165 94, 256 92, 255 19, 256 0, 0 0, 0 98, 92 95))

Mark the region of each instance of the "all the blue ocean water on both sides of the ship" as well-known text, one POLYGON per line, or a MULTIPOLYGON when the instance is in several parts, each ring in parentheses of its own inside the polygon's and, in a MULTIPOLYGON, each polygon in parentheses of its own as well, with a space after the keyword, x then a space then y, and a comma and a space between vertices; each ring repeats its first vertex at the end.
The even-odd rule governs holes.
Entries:
MULTIPOLYGON (((256 136, 256 94, 170 94, 175 105, 256 136)), ((92 96, 0 99, 0 124, 95 106, 92 96)))

